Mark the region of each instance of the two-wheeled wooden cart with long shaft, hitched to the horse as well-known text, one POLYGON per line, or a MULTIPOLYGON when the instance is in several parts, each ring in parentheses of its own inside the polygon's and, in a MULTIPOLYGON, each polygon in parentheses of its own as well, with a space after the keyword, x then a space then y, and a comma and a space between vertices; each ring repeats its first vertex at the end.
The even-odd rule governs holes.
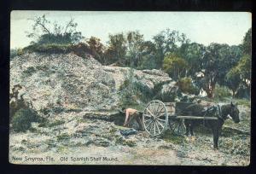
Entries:
POLYGON ((181 115, 182 111, 193 102, 148 102, 143 111, 143 127, 151 136, 159 136, 166 131, 168 125, 177 135, 186 132, 184 119, 217 120, 217 117, 201 117, 195 115, 181 115))

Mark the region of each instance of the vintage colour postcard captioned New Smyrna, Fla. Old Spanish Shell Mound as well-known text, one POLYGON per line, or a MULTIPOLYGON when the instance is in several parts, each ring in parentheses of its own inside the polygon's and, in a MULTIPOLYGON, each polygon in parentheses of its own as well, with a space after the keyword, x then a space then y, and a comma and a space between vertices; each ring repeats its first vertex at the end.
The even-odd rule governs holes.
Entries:
POLYGON ((9 162, 250 164, 252 14, 11 12, 9 162))

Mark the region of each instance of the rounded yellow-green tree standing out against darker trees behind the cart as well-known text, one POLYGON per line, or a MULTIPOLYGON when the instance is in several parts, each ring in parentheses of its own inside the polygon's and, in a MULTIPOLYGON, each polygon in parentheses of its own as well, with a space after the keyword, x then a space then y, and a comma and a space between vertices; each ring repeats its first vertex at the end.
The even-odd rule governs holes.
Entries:
POLYGON ((188 64, 182 58, 175 54, 166 55, 163 63, 163 68, 174 80, 185 76, 188 64))

